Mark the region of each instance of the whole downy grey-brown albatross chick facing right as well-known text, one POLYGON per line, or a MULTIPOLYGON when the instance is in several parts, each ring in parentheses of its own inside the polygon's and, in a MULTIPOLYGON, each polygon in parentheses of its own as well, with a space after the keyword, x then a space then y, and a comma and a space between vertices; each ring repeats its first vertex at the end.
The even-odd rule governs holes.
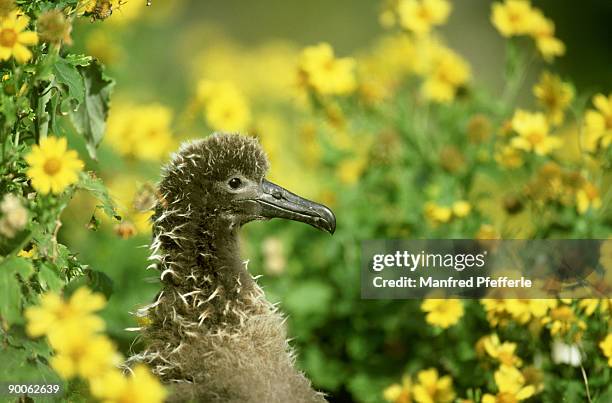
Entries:
POLYGON ((214 134, 165 167, 153 215, 152 267, 162 289, 138 312, 148 363, 171 401, 325 402, 295 368, 283 316, 240 258, 249 221, 285 218, 333 233, 334 214, 265 179, 257 140, 214 134))

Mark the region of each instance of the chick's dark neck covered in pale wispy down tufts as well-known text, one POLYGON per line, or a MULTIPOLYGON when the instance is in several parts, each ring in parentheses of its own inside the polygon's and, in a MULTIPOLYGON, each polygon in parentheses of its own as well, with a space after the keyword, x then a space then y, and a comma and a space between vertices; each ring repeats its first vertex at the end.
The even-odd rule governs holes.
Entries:
POLYGON ((211 216, 156 218, 152 258, 163 288, 154 304, 154 321, 226 330, 267 309, 261 289, 240 258, 238 228, 222 218, 210 220, 211 216))

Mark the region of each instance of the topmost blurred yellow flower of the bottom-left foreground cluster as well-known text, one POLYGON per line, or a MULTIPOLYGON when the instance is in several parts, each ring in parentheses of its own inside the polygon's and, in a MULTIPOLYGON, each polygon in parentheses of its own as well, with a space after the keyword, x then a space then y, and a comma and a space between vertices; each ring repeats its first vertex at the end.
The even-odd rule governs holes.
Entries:
POLYGON ((31 337, 51 335, 62 331, 62 327, 72 322, 79 324, 79 333, 98 331, 104 328, 104 322, 92 315, 106 304, 104 297, 81 287, 72 294, 68 301, 53 292, 44 294, 40 305, 26 309, 28 321, 26 331, 31 337))

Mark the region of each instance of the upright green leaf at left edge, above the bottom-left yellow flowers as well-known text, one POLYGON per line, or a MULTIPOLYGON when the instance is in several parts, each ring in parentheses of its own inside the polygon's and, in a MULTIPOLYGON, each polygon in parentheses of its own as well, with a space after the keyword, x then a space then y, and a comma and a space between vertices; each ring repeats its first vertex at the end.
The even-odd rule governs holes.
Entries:
POLYGON ((21 283, 17 278, 28 278, 34 269, 23 258, 11 257, 0 264, 0 317, 9 324, 22 323, 21 283))

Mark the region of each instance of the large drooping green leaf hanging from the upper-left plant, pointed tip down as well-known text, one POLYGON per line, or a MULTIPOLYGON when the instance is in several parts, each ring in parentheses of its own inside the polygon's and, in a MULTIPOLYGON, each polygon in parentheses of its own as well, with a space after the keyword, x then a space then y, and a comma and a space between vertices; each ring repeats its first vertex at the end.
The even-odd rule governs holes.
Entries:
POLYGON ((110 95, 115 82, 104 74, 97 61, 87 66, 77 67, 85 84, 85 97, 78 109, 70 114, 77 131, 87 141, 87 151, 96 158, 96 148, 106 129, 110 95))

